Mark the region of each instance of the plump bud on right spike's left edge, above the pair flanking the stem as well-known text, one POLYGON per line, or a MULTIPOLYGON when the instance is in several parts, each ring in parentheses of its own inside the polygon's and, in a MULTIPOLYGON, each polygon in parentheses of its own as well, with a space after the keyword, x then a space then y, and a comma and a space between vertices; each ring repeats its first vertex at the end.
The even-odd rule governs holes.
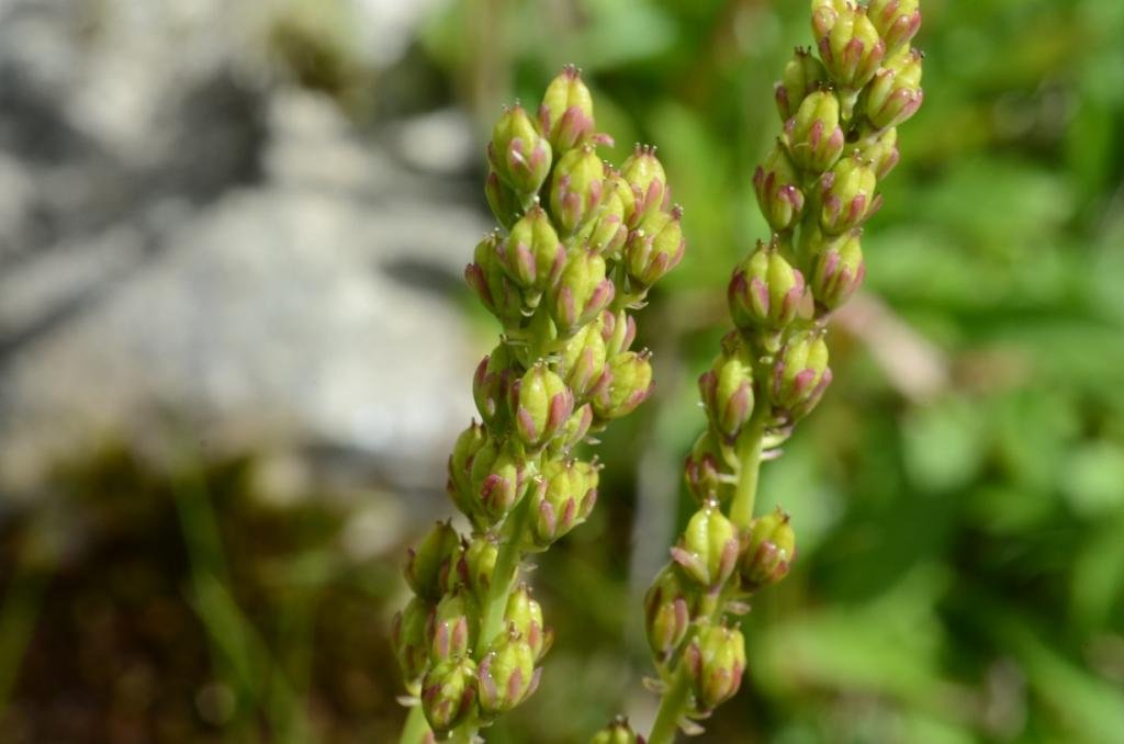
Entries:
POLYGON ((780 330, 796 318, 804 291, 804 274, 774 244, 758 241, 758 249, 735 266, 729 280, 729 315, 743 330, 780 330))

